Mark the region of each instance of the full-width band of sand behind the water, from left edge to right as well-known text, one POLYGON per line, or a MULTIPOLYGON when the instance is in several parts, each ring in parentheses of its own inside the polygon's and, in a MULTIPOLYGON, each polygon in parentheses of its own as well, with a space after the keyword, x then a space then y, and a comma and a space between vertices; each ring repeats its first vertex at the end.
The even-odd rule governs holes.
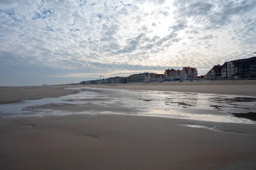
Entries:
POLYGON ((136 84, 93 84, 56 86, 10 86, 0 89, 0 104, 15 104, 24 100, 55 98, 76 94, 77 89, 66 88, 105 88, 149 91, 189 92, 218 95, 237 95, 256 97, 256 81, 205 81, 205 82, 166 82, 136 84))

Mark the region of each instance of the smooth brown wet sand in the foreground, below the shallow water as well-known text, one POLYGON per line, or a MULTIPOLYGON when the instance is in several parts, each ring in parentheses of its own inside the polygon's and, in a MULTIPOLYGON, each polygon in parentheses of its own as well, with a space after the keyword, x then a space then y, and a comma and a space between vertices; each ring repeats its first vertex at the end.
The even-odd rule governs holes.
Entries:
POLYGON ((1 170, 256 167, 253 124, 107 114, 16 117, 0 121, 0 138, 1 170), (228 131, 183 125, 188 123, 228 131))

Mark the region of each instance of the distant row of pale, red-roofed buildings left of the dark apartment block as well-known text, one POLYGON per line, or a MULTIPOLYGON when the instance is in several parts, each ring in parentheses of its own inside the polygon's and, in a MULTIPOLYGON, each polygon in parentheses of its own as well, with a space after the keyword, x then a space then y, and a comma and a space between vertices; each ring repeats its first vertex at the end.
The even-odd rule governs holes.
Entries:
POLYGON ((180 80, 197 80, 198 77, 196 68, 183 67, 183 69, 166 69, 164 74, 157 73, 139 73, 128 77, 113 77, 100 80, 82 81, 80 84, 123 84, 123 83, 150 83, 163 81, 180 81, 180 80))

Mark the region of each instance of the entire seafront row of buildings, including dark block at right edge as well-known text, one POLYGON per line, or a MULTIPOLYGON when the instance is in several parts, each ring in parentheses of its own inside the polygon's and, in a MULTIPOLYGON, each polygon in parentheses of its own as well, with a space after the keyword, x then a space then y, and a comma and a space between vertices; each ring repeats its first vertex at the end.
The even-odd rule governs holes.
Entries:
POLYGON ((198 76, 193 67, 183 69, 166 69, 164 74, 139 73, 128 77, 113 77, 101 80, 82 81, 80 84, 123 84, 123 83, 149 83, 163 81, 185 81, 200 79, 250 79, 256 78, 256 57, 227 61, 223 65, 215 65, 206 75, 198 76))

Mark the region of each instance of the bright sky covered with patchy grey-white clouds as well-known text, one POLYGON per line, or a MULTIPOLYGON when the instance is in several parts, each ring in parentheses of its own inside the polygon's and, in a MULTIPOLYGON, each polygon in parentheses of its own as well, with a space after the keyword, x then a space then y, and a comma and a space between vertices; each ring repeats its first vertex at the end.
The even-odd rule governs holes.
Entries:
POLYGON ((249 58, 256 0, 1 0, 0 86, 163 74, 249 58))

